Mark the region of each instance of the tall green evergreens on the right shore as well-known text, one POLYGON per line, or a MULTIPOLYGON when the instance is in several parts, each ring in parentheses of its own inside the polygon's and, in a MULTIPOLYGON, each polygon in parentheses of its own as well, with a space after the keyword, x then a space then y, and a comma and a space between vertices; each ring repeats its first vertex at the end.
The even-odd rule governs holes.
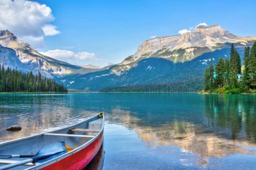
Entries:
POLYGON ((245 48, 241 57, 232 44, 230 58, 222 58, 214 67, 211 60, 210 67, 205 69, 205 91, 210 93, 255 93, 256 87, 256 42, 252 48, 245 48))

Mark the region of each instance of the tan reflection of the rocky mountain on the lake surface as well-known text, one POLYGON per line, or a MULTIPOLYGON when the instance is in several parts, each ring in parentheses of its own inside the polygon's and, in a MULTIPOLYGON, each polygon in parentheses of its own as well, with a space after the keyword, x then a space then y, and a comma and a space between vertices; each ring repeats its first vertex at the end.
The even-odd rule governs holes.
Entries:
POLYGON ((119 122, 135 130, 139 138, 148 146, 179 146, 183 148, 183 151, 197 153, 202 157, 224 157, 233 153, 255 154, 254 150, 245 147, 254 147, 255 144, 222 138, 218 132, 206 132, 203 126, 191 122, 174 120, 161 126, 141 126, 138 118, 131 117, 129 112, 113 110, 113 114, 120 112, 123 116, 119 117, 119 122))

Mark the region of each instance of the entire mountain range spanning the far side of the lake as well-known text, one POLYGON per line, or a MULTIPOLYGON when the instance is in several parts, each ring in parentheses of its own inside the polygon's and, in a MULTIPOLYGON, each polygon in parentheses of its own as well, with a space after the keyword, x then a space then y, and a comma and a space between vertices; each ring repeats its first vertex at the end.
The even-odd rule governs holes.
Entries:
POLYGON ((220 26, 199 26, 185 34, 146 40, 121 63, 100 68, 79 67, 44 56, 5 30, 0 31, 0 61, 12 68, 40 71, 69 89, 100 91, 106 87, 177 82, 202 85, 211 58, 228 57, 231 43, 242 56, 245 46, 251 46, 255 40, 253 36, 235 36, 220 26))

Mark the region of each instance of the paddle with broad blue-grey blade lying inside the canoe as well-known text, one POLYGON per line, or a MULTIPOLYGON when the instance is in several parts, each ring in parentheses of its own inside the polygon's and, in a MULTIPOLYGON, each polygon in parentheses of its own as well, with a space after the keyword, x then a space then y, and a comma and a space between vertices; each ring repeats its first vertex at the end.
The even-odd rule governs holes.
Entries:
MULTIPOLYGON (((36 155, 34 155, 30 159, 25 159, 23 161, 18 161, 17 163, 12 163, 9 165, 3 165, 0 167, 0 170, 4 169, 10 169, 13 167, 18 167, 20 165, 24 165, 26 163, 35 163, 38 161, 46 161, 48 159, 53 159, 53 157, 58 157, 59 155, 62 155, 63 153, 67 153, 66 147, 65 147, 65 142, 55 142, 51 144, 47 144, 43 146, 36 155)), ((6 155, 3 155, 6 156, 6 155)), ((7 155, 10 156, 10 155, 7 155)), ((26 155, 28 156, 28 155, 26 155)))

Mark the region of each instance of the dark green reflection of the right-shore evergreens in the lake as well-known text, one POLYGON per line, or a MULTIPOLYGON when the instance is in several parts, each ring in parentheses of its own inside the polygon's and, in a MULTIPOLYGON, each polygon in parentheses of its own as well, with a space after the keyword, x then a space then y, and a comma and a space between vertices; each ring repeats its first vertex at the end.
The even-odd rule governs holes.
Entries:
POLYGON ((255 100, 248 96, 205 95, 205 114, 212 128, 227 130, 225 136, 233 140, 256 142, 255 111, 255 100))

